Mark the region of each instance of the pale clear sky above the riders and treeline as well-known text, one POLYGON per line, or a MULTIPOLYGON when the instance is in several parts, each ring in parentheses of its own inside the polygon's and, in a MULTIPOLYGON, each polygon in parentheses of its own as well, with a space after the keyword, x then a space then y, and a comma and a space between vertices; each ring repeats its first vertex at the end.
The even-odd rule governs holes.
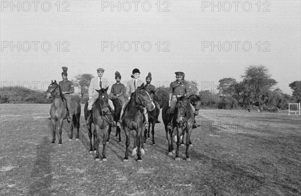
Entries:
POLYGON ((69 80, 103 68, 112 83, 138 68, 157 87, 183 71, 199 91, 241 81, 249 65, 267 67, 284 93, 301 80, 300 1, 31 2, 1 2, 1 87, 46 90, 62 66, 69 80))

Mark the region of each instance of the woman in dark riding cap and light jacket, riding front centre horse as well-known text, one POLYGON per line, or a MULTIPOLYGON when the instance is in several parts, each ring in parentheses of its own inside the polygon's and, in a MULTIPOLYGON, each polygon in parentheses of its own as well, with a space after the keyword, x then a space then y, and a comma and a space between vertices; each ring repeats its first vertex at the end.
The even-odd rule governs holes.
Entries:
MULTIPOLYGON (((140 71, 137 68, 133 69, 132 75, 130 77, 132 78, 132 80, 130 80, 126 83, 125 96, 127 97, 127 100, 125 101, 125 104, 122 106, 122 109, 121 109, 120 119, 118 121, 119 125, 122 124, 122 121, 121 121, 122 115, 123 115, 123 112, 124 112, 124 108, 126 107, 127 103, 130 100, 130 95, 133 92, 135 92, 135 90, 139 86, 141 86, 143 84, 143 81, 138 79, 140 77, 140 71)), ((146 108, 143 108, 143 114, 144 114, 144 117, 145 117, 145 127, 148 127, 148 121, 147 121, 148 116, 147 116, 146 108)))

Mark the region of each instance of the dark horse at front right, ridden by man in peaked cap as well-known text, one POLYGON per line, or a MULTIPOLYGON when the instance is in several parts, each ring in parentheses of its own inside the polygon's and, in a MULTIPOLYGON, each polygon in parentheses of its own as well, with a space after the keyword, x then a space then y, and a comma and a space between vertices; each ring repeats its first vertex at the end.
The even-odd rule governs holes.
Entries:
POLYGON ((189 101, 185 98, 185 96, 177 98, 178 102, 176 104, 174 118, 173 118, 173 130, 168 128, 168 124, 171 121, 169 119, 169 110, 170 107, 166 104, 162 110, 162 119, 165 125, 166 137, 168 140, 168 151, 169 155, 173 155, 175 153, 174 150, 174 142, 177 142, 177 152, 176 152, 176 160, 180 160, 179 158, 179 145, 181 142, 182 133, 184 131, 187 132, 186 138, 186 160, 190 160, 188 154, 188 147, 190 142, 190 135, 192 131, 192 126, 194 124, 194 115, 192 108, 189 104, 189 101), (177 134, 175 134, 177 133, 177 134), (173 139, 175 138, 175 139, 173 139))

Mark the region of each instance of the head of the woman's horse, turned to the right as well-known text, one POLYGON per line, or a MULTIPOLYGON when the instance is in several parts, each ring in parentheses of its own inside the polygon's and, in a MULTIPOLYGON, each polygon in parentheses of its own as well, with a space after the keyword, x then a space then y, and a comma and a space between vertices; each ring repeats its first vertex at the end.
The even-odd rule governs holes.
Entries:
POLYGON ((139 90, 135 91, 135 102, 143 107, 146 107, 148 111, 153 111, 155 109, 155 104, 153 99, 150 97, 149 93, 144 90, 144 85, 142 84, 139 90), (142 87, 142 88, 141 88, 142 87))

